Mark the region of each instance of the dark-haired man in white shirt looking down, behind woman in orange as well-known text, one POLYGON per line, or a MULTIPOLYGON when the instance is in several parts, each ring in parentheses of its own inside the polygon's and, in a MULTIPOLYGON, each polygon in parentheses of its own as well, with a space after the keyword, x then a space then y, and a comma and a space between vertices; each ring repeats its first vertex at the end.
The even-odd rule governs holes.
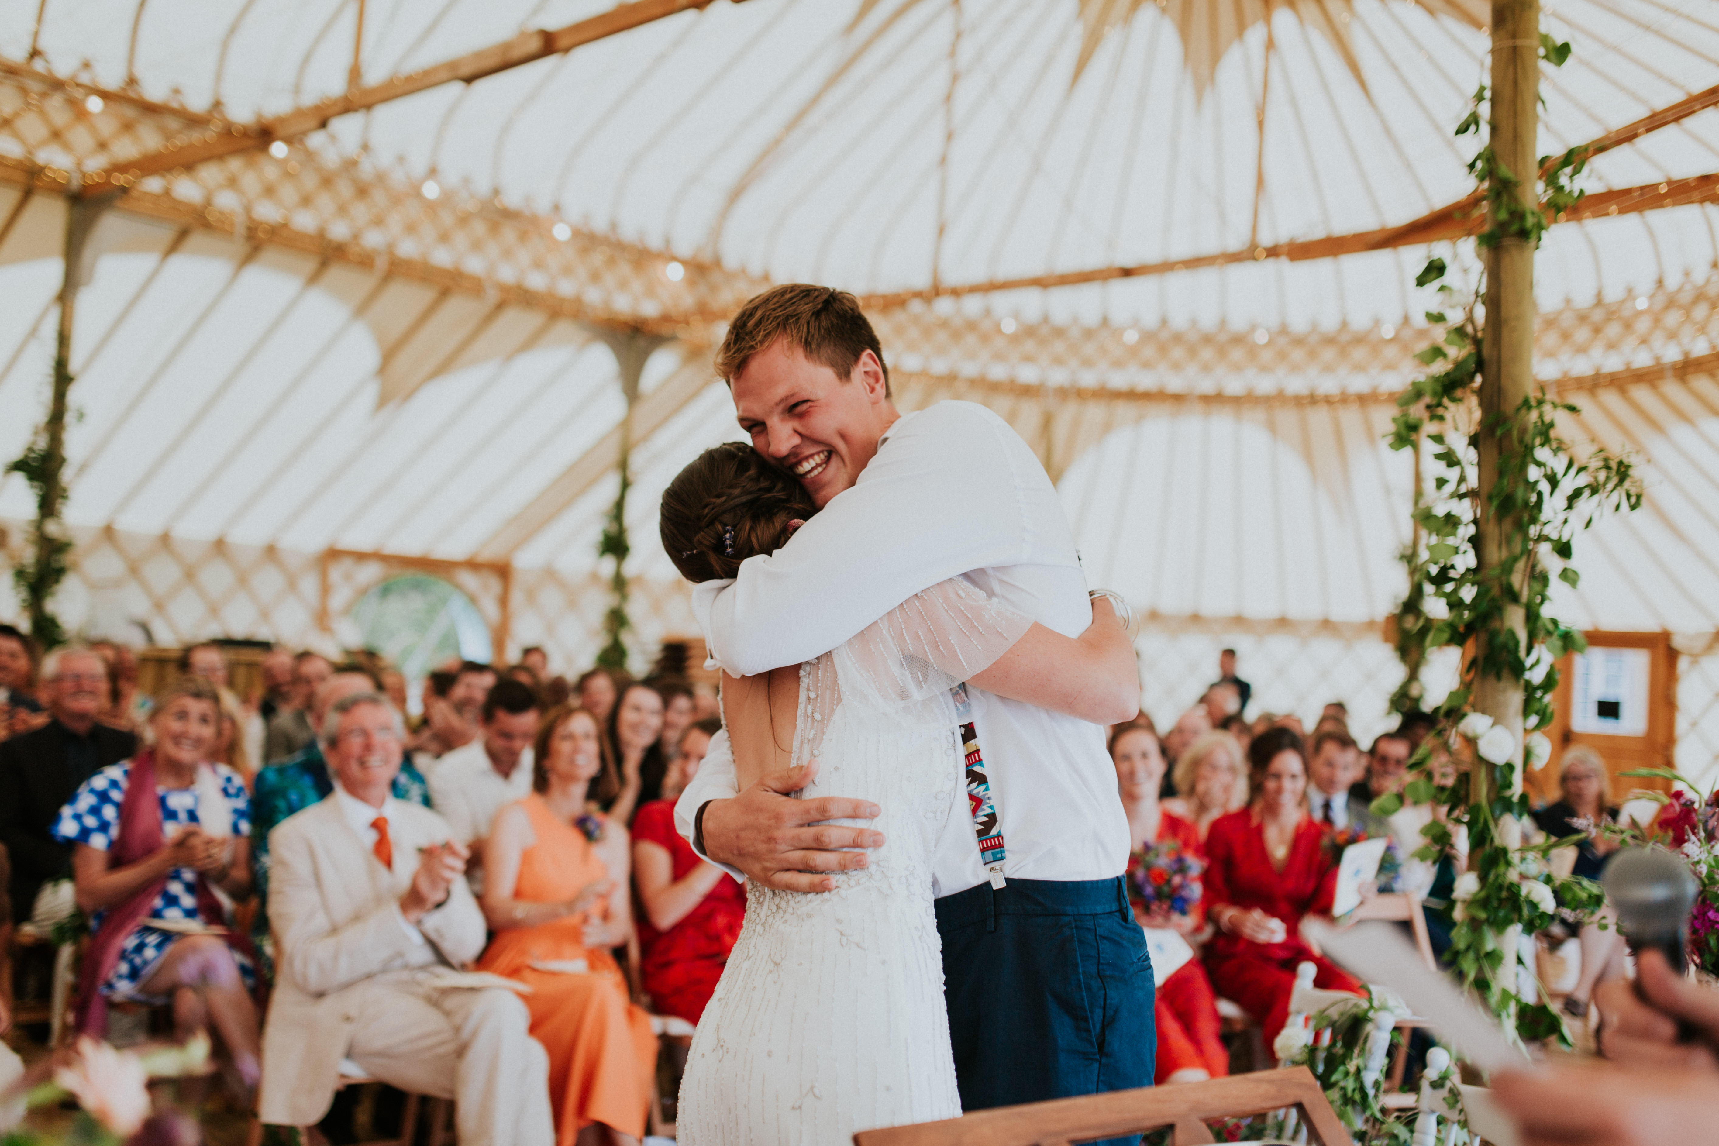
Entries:
POLYGON ((430 801, 454 838, 471 849, 466 875, 471 890, 481 893, 483 837, 495 813, 531 794, 531 742, 543 720, 543 701, 535 689, 504 677, 480 713, 481 735, 437 761, 430 801))

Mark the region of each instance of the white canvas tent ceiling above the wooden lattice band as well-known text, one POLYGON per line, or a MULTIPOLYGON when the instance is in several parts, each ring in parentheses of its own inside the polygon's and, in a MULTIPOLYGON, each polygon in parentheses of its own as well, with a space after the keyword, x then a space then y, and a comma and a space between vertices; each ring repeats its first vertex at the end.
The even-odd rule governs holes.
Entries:
MULTIPOLYGON (((376 81, 603 7, 376 2, 361 64, 376 81)), ((1403 222, 1465 191, 1466 151, 1449 129, 1482 79, 1475 5, 1279 3, 1267 26, 1260 0, 1238 0, 1222 9, 1234 12, 1229 31, 1198 19, 1203 7, 1014 0, 959 9, 947 180, 956 27, 949 5, 927 0, 715 3, 339 119, 321 139, 399 160, 414 179, 554 206, 598 232, 860 290, 923 285, 933 263, 944 282, 961 282, 1339 234, 1403 222), (1116 19, 1117 10, 1129 19, 1116 19), (1071 82, 1095 21, 1097 52, 1071 82), (1202 94, 1191 72, 1203 65, 1191 69, 1190 58, 1217 48, 1202 94)), ((234 117, 346 88, 351 3, 256 3, 217 21, 189 12, 153 3, 139 15, 134 0, 50 3, 38 43, 58 70, 88 57, 103 82, 134 74, 150 94, 177 86, 194 107, 218 98, 234 117)), ((1554 5, 1549 27, 1571 38, 1576 55, 1547 76, 1542 149, 1719 82, 1719 21, 1704 12, 1654 0, 1554 5)), ((22 57, 33 31, 33 12, 21 9, 0 24, 0 45, 22 57)), ((1633 186, 1716 168, 1719 113, 1704 112, 1600 156, 1594 177, 1602 187, 1633 186)), ((1685 259, 1705 268, 1712 229, 1693 215, 1633 220, 1602 259, 1573 241, 1568 268, 1549 253, 1554 273, 1542 287, 1556 297, 1600 278, 1604 294, 1662 271, 1678 278, 1685 259), (1691 237, 1700 241, 1693 251, 1691 237)), ((1607 230, 1581 225, 1590 229, 1607 230)), ((1174 290, 1114 283, 999 304, 1148 325, 1367 326, 1418 309, 1399 289, 1411 263, 1386 254, 1224 268, 1174 290)))

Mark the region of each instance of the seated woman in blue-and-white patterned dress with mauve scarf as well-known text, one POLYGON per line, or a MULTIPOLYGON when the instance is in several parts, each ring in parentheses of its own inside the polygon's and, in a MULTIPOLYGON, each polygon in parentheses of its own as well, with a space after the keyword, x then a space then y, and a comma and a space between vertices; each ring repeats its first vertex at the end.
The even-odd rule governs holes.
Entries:
POLYGON ((227 930, 220 899, 251 893, 251 804, 230 768, 206 763, 220 727, 215 686, 179 677, 156 694, 150 723, 155 747, 84 780, 53 825, 76 845, 77 905, 93 928, 77 1029, 105 1036, 108 1000, 172 1003, 180 1038, 213 1022, 239 1079, 256 1086, 251 943, 227 930))

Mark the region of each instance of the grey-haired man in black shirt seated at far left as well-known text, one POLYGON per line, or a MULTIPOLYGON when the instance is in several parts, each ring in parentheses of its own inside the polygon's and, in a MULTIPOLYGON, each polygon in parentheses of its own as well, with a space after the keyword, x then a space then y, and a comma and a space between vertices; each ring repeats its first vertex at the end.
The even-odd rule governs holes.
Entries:
MULTIPOLYGON (((0 844, 12 859, 12 919, 36 914, 36 895, 72 875, 72 849, 53 838, 60 808, 101 768, 138 751, 131 732, 100 723, 108 698, 107 663, 86 648, 48 653, 41 694, 50 720, 0 744, 0 844)), ((70 907, 52 916, 70 914, 70 907)))

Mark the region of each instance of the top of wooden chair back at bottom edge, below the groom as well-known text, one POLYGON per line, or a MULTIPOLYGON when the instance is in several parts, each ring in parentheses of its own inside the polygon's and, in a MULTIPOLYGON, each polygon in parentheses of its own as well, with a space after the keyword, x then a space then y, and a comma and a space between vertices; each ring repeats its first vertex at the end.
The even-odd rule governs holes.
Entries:
POLYGON ((978 1110, 944 1122, 861 1131, 854 1146, 1073 1146, 1164 1127, 1171 1127, 1172 1146, 1190 1146, 1217 1141, 1207 1122, 1284 1108, 1298 1112, 1312 1143, 1353 1146, 1306 1067, 978 1110))

